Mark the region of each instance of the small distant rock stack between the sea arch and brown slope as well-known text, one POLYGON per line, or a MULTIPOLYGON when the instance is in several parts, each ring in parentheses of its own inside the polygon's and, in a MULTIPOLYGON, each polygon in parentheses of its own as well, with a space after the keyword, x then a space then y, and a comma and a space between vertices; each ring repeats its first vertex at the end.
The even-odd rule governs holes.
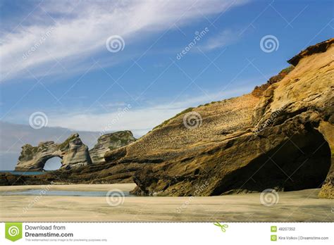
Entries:
POLYGON ((126 146, 135 141, 136 139, 133 137, 132 132, 128 130, 104 134, 97 139, 97 144, 95 144, 94 148, 89 150, 89 154, 93 163, 103 163, 104 154, 107 151, 126 146))

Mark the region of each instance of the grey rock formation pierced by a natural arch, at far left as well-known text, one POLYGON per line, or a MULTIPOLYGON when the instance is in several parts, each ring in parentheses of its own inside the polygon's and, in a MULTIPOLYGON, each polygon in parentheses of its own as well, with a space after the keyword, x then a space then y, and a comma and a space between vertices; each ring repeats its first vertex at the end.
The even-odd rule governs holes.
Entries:
POLYGON ((18 158, 16 171, 41 171, 50 158, 61 158, 61 168, 74 168, 92 163, 88 147, 81 142, 79 134, 72 134, 65 142, 41 142, 38 146, 25 144, 18 158))

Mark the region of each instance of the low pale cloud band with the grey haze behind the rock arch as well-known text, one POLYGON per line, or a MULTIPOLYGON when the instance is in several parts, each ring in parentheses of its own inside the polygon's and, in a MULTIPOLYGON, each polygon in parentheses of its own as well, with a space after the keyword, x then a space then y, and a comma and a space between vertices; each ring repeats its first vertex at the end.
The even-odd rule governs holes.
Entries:
MULTIPOLYGON (((29 125, 14 125, 0 121, 2 129, 0 136, 3 139, 3 144, 0 145, 0 170, 13 170, 15 168, 20 155, 20 147, 23 144, 37 145, 39 142, 48 140, 62 142, 73 132, 79 132, 82 142, 87 144, 89 148, 96 144, 100 132, 104 134, 118 130, 131 130, 135 137, 141 137, 156 125, 180 113, 185 108, 248 93, 254 88, 254 81, 258 80, 260 78, 254 77, 251 80, 242 80, 241 84, 239 81, 235 81, 233 85, 239 89, 192 96, 190 99, 184 99, 181 96, 178 101, 157 103, 155 106, 147 108, 132 108, 131 106, 130 110, 125 113, 122 111, 99 113, 95 110, 87 112, 87 108, 76 108, 75 110, 68 108, 67 111, 74 111, 72 113, 49 112, 47 113, 48 127, 43 127, 40 130, 34 130, 29 125)), ((106 106, 113 105, 123 108, 128 106, 123 102, 106 104, 106 106)), ((30 113, 31 111, 21 111, 8 119, 12 122, 25 122, 30 113)))

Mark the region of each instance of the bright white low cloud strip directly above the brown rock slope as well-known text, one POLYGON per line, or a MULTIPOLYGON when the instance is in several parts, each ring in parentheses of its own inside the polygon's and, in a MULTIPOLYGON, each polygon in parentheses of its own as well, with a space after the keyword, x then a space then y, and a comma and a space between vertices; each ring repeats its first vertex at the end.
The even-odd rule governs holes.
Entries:
POLYGON ((228 90, 202 96, 194 96, 190 99, 182 99, 172 103, 156 104, 145 108, 132 108, 118 110, 113 113, 81 113, 79 110, 74 113, 61 113, 48 115, 50 127, 66 127, 70 130, 106 131, 131 130, 136 137, 140 137, 164 120, 173 117, 180 111, 191 106, 218 101, 221 99, 239 96, 252 90, 254 86, 242 86, 240 89, 228 90), (123 113, 125 111, 125 113, 123 113))

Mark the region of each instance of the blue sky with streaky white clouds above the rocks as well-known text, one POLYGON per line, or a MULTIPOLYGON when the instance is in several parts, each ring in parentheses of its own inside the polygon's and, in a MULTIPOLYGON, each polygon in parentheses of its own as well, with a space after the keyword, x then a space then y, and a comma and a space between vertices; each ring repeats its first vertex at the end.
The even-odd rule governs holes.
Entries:
POLYGON ((333 1, 8 0, 0 8, 2 122, 29 125, 40 111, 48 127, 137 137, 187 107, 251 92, 334 32, 333 1), (110 52, 115 35, 123 50, 110 52), (266 35, 277 50, 261 50, 266 35))

